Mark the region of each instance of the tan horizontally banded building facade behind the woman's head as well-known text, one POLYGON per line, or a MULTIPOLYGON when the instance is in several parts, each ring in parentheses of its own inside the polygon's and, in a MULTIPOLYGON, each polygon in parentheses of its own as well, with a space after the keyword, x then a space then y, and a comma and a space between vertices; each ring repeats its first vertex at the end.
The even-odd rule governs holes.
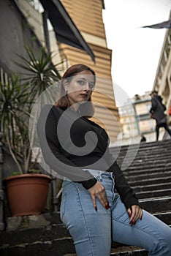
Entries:
MULTIPOLYGON (((74 20, 80 32, 94 35, 106 40, 104 24, 102 20, 101 0, 61 0, 69 15, 74 20)), ((95 38, 94 37, 94 38, 95 38)), ((104 45, 88 42, 96 56, 96 63, 83 50, 61 44, 69 66, 82 63, 93 68, 96 72, 96 88, 92 96, 95 105, 94 120, 96 120, 110 135, 113 142, 120 132, 118 124, 118 108, 115 105, 113 82, 111 78, 112 50, 104 45), (97 102, 97 103, 96 103, 97 102)))

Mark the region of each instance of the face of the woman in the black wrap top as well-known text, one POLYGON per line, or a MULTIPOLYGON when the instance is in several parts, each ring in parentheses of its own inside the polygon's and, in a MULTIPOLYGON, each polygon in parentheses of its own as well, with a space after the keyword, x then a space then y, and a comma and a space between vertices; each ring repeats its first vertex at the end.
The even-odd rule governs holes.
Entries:
POLYGON ((64 89, 67 91, 71 105, 88 101, 94 86, 94 75, 90 70, 77 73, 70 82, 64 80, 64 89))

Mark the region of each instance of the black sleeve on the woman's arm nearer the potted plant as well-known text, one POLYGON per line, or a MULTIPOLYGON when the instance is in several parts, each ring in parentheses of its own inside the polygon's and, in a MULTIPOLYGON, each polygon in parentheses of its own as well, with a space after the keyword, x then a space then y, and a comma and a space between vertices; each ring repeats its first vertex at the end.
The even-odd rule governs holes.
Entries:
POLYGON ((83 184, 89 189, 96 184, 96 178, 88 171, 82 170, 61 153, 57 136, 57 124, 60 113, 55 106, 45 105, 37 123, 37 134, 42 149, 42 155, 47 165, 57 175, 69 178, 83 184))

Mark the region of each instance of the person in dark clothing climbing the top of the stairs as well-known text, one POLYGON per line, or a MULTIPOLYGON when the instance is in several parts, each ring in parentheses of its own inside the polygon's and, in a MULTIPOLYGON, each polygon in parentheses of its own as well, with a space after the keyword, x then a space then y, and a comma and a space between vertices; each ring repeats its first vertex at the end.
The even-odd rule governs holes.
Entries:
POLYGON ((171 130, 167 126, 167 116, 164 113, 166 107, 162 103, 161 96, 158 95, 157 91, 151 92, 151 110, 150 113, 154 119, 156 119, 156 140, 159 140, 159 128, 164 129, 169 133, 171 137, 171 130))

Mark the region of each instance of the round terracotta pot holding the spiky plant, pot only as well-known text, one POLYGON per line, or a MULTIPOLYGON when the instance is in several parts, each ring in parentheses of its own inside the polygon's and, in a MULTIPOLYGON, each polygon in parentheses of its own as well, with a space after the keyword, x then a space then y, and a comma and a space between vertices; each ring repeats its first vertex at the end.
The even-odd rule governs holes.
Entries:
POLYGON ((22 174, 5 179, 4 185, 12 217, 38 215, 47 203, 50 176, 22 174))

